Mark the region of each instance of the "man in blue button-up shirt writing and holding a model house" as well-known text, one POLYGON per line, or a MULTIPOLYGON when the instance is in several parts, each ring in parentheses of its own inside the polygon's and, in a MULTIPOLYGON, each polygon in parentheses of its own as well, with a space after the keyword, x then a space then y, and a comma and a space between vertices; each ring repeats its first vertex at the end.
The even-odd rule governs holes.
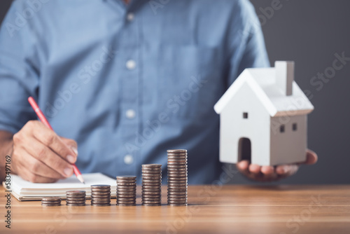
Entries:
MULTIPOLYGON (((166 172, 166 150, 188 149, 189 183, 210 183, 221 172, 213 106, 246 67, 267 66, 248 0, 14 1, 0 32, 1 164, 10 154, 33 182, 70 177, 71 163, 140 178, 141 164, 166 172), (56 133, 34 121, 29 96, 56 133)), ((237 166, 260 181, 297 170, 237 166)))

